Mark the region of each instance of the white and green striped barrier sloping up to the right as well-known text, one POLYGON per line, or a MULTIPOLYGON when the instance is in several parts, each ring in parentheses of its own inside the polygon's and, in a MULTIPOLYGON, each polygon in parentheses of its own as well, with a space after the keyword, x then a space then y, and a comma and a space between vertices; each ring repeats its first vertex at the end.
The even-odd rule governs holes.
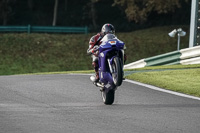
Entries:
POLYGON ((142 68, 145 66, 200 64, 200 46, 182 49, 150 58, 142 59, 124 66, 124 69, 142 68))

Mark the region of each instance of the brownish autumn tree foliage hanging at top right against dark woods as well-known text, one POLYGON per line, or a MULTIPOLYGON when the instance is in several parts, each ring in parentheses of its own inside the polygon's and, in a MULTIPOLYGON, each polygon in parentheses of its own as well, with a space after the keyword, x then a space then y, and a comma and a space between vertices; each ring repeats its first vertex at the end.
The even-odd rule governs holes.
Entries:
POLYGON ((113 6, 119 6, 129 21, 143 23, 152 12, 174 12, 181 7, 181 0, 114 0, 113 6))

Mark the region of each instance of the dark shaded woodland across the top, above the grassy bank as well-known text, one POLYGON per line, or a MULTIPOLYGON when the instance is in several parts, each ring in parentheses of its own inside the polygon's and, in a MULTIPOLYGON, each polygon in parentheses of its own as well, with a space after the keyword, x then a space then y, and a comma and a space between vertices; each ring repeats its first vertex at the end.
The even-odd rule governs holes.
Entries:
POLYGON ((118 32, 189 25, 191 0, 1 0, 1 25, 88 26, 118 32), (53 24, 54 21, 54 24, 53 24))

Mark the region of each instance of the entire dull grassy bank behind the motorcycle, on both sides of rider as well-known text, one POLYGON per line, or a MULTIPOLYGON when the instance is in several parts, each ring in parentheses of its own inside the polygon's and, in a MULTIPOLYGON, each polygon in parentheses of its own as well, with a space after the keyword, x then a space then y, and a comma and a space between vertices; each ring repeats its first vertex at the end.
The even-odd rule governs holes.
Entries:
MULTIPOLYGON (((116 35, 126 43, 127 62, 175 51, 177 38, 168 33, 189 26, 154 27, 116 35)), ((83 34, 0 34, 0 75, 38 72, 91 70, 86 55, 92 35, 83 34)), ((189 36, 181 38, 181 48, 188 47, 189 36)))

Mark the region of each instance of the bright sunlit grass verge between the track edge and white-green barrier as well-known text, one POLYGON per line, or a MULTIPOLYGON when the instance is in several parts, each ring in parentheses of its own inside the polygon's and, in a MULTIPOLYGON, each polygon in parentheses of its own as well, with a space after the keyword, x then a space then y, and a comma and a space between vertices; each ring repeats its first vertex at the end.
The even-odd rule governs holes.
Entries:
POLYGON ((146 67, 133 72, 126 78, 200 97, 200 65, 146 67))

